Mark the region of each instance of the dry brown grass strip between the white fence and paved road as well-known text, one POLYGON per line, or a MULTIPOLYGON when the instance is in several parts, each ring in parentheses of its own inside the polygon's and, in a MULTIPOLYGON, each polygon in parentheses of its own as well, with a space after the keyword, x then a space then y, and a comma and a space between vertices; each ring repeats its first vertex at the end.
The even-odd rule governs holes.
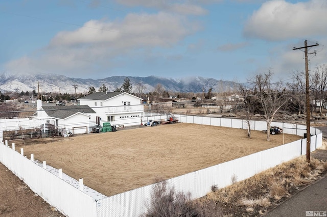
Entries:
POLYGON ((301 156, 209 193, 205 199, 228 207, 224 215, 263 215, 269 207, 295 194, 325 171, 327 162, 311 159, 308 163, 306 157, 301 156))

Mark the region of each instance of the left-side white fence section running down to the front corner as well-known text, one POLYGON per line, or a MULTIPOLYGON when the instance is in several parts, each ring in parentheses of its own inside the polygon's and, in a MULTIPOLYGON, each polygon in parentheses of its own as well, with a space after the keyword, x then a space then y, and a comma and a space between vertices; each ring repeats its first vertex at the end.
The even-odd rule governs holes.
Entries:
POLYGON ((3 144, 0 144, 0 161, 33 192, 64 214, 97 216, 97 203, 92 197, 3 144))

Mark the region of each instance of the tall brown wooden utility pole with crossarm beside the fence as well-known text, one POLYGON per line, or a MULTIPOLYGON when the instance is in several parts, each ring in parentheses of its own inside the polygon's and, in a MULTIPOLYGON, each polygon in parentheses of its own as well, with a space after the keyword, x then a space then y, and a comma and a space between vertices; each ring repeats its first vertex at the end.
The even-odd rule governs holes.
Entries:
MULTIPOLYGON (((307 161, 310 162, 310 145, 311 145, 311 134, 310 134, 310 92, 309 92, 309 66, 308 66, 308 47, 318 46, 319 44, 313 44, 308 46, 308 41, 305 40, 304 47, 293 48, 293 50, 305 49, 305 61, 306 61, 306 106, 307 106, 307 161)), ((316 53, 313 52, 313 53, 316 53)), ((309 53, 312 54, 312 53, 309 53)))

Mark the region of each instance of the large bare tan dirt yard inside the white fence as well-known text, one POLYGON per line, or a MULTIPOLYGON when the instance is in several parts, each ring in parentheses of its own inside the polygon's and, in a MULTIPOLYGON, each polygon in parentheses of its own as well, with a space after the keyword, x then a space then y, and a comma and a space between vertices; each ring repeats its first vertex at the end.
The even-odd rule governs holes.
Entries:
MULTIPOLYGON (((300 139, 285 134, 285 143, 300 139)), ((52 139, 50 139, 52 140, 52 139)), ((116 132, 92 133, 61 141, 22 145, 30 158, 111 196, 283 144, 283 134, 197 124, 167 124, 116 132)))

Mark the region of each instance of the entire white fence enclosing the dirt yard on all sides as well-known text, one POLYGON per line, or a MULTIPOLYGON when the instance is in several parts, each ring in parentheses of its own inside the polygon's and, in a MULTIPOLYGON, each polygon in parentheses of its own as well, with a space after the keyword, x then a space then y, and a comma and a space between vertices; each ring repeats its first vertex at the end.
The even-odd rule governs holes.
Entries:
MULTIPOLYGON (((241 119, 174 116, 182 123, 247 129, 246 121, 241 119)), ((148 116, 147 120, 165 120, 168 117, 169 115, 148 116)), ((272 125, 284 128, 285 133, 302 136, 306 132, 306 126, 299 124, 273 122, 272 125)), ((251 121, 253 130, 266 128, 264 121, 251 121)), ((314 151, 322 145, 322 133, 313 127, 311 133, 315 134, 311 137, 311 151, 314 151)), ((191 193, 193 199, 200 198, 211 192, 212 186, 222 188, 230 185, 233 177, 241 181, 284 161, 306 154, 306 143, 306 139, 301 139, 171 178, 167 183, 175 186, 178 192, 191 193)), ((68 216, 139 216, 146 211, 146 202, 150 202, 155 184, 106 197, 87 188, 81 181, 69 179, 61 174, 60 170, 45 165, 45 162, 43 165, 37 163, 33 159, 34 156, 28 159, 24 156, 24 150, 20 150, 19 153, 14 150, 14 144, 12 146, 9 148, 8 144, 0 144, 0 161, 36 194, 68 216), (90 194, 91 191, 94 193, 90 194)))

